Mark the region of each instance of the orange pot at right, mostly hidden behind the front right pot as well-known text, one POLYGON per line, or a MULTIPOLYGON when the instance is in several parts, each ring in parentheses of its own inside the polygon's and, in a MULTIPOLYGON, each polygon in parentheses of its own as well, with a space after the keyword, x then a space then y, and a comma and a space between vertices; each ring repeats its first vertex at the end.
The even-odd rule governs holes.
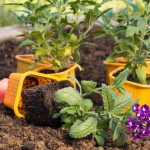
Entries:
MULTIPOLYGON (((144 67, 143 69, 150 73, 150 59, 145 59, 147 66, 144 67)), ((125 63, 127 62, 127 59, 125 59, 124 57, 119 57, 116 58, 115 62, 106 62, 104 61, 103 63, 105 64, 105 68, 106 68, 106 74, 107 74, 107 81, 108 83, 110 83, 110 78, 109 78, 109 74, 119 68, 119 67, 124 67, 125 63)))

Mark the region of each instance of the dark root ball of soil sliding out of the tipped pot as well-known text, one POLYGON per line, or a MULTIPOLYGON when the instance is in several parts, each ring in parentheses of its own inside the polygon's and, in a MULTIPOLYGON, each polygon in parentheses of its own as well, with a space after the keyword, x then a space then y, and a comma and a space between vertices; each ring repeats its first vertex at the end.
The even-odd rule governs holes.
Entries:
POLYGON ((61 105, 54 103, 54 94, 68 86, 72 86, 69 81, 61 81, 25 89, 22 97, 26 121, 34 125, 59 127, 60 118, 52 119, 52 115, 61 108, 61 105))

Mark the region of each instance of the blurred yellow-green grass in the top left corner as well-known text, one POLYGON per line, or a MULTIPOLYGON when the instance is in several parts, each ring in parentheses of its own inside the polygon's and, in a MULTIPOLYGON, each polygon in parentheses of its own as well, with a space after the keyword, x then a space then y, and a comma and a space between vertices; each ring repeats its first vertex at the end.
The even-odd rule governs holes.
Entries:
POLYGON ((0 0, 0 27, 18 24, 18 20, 12 12, 23 9, 20 6, 4 5, 7 3, 21 3, 26 0, 0 0))

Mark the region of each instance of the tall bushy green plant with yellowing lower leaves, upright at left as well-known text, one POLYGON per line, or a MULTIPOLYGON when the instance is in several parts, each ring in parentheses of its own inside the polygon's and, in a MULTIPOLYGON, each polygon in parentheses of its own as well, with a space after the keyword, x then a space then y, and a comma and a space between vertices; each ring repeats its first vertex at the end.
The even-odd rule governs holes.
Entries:
POLYGON ((80 60, 80 45, 95 21, 107 12, 98 11, 100 4, 90 0, 46 0, 45 3, 28 0, 22 6, 25 11, 18 18, 32 31, 24 33, 26 40, 20 46, 32 45, 37 60, 52 63, 56 70, 80 60), (81 24, 85 30, 81 30, 81 24))

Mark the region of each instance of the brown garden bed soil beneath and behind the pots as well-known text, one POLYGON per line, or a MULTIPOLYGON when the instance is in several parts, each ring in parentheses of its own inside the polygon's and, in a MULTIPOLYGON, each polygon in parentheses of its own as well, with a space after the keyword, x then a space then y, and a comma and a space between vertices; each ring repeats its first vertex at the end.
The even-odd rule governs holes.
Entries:
MULTIPOLYGON (((98 47, 82 46, 82 73, 79 80, 95 80, 99 85, 106 83, 106 73, 103 60, 111 53, 113 42, 109 39, 93 40, 98 47)), ((8 77, 16 70, 16 54, 31 53, 29 48, 17 49, 18 42, 7 41, 0 44, 0 79, 8 77)), ((92 95, 96 105, 102 105, 101 98, 92 95)), ((132 141, 128 138, 123 148, 117 148, 114 143, 106 142, 104 147, 98 147, 91 138, 81 140, 71 139, 61 128, 35 126, 25 119, 17 118, 13 111, 0 105, 0 150, 150 150, 150 140, 132 141)))

